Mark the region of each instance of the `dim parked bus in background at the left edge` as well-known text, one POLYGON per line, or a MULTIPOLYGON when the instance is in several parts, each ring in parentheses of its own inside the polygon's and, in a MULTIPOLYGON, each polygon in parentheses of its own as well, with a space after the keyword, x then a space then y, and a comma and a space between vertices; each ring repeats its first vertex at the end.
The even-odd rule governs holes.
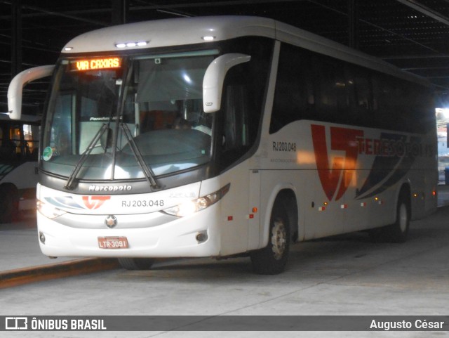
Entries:
POLYGON ((39 124, 38 117, 0 115, 0 223, 36 209, 39 124))

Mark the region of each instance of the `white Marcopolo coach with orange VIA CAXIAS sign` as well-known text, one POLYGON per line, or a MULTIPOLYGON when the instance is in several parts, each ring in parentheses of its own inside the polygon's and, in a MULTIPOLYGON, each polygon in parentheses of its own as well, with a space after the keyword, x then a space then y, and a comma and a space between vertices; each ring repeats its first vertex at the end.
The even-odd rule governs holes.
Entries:
POLYGON ((267 18, 82 34, 55 66, 42 128, 47 256, 143 269, 248 254, 275 274, 290 242, 357 230, 403 242, 410 219, 436 210, 429 84, 267 18))

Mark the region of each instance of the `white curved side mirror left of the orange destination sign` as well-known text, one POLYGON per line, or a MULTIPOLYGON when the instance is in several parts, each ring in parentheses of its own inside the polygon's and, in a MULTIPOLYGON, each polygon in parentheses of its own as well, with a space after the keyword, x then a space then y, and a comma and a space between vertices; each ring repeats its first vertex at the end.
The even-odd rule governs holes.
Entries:
POLYGON ((54 65, 29 68, 15 75, 8 87, 8 112, 11 119, 22 117, 22 90, 25 84, 42 77, 49 77, 54 65))

